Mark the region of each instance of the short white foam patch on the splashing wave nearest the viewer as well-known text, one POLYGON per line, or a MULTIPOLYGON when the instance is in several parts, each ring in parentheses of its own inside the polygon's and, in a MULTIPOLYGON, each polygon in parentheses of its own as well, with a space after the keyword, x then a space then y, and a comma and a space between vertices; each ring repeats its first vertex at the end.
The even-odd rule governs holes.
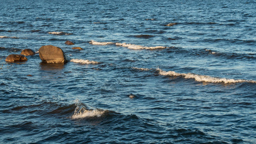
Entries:
POLYGON ((77 114, 73 114, 71 117, 72 119, 83 119, 83 118, 93 118, 93 117, 101 117, 104 115, 105 112, 108 110, 103 109, 90 109, 90 110, 83 110, 83 112, 79 112, 77 114))

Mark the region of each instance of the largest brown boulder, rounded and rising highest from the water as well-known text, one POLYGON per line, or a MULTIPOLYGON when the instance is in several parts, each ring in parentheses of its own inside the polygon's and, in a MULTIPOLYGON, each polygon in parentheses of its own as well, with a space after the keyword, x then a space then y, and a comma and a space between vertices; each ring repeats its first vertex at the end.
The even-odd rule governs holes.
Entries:
POLYGON ((66 63, 69 61, 69 57, 66 56, 61 48, 52 45, 39 48, 39 57, 46 63, 66 63))

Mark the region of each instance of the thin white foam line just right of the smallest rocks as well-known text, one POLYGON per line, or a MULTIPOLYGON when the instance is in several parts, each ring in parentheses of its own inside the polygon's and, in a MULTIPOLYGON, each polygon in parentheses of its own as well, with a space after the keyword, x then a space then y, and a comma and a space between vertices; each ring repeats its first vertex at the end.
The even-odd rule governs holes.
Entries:
POLYGON ((110 45, 115 44, 116 46, 122 46, 127 47, 129 49, 159 49, 159 48, 169 48, 169 47, 163 47, 163 46, 157 46, 157 47, 145 47, 140 45, 134 45, 134 44, 126 44, 126 43, 113 43, 113 42, 97 42, 97 41, 90 41, 89 42, 92 45, 110 45))

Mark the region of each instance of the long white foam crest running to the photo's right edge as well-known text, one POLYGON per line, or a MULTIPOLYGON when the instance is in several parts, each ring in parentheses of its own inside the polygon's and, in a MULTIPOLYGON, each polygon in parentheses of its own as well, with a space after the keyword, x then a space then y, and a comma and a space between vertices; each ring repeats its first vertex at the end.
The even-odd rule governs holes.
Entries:
POLYGON ((234 80, 234 79, 211 77, 208 75, 199 75, 194 73, 178 73, 173 71, 165 72, 159 68, 157 69, 157 71, 160 75, 183 76, 186 79, 195 79, 195 81, 198 81, 198 82, 224 83, 224 84, 243 83, 243 82, 256 83, 256 81, 253 81, 253 80, 234 80))

